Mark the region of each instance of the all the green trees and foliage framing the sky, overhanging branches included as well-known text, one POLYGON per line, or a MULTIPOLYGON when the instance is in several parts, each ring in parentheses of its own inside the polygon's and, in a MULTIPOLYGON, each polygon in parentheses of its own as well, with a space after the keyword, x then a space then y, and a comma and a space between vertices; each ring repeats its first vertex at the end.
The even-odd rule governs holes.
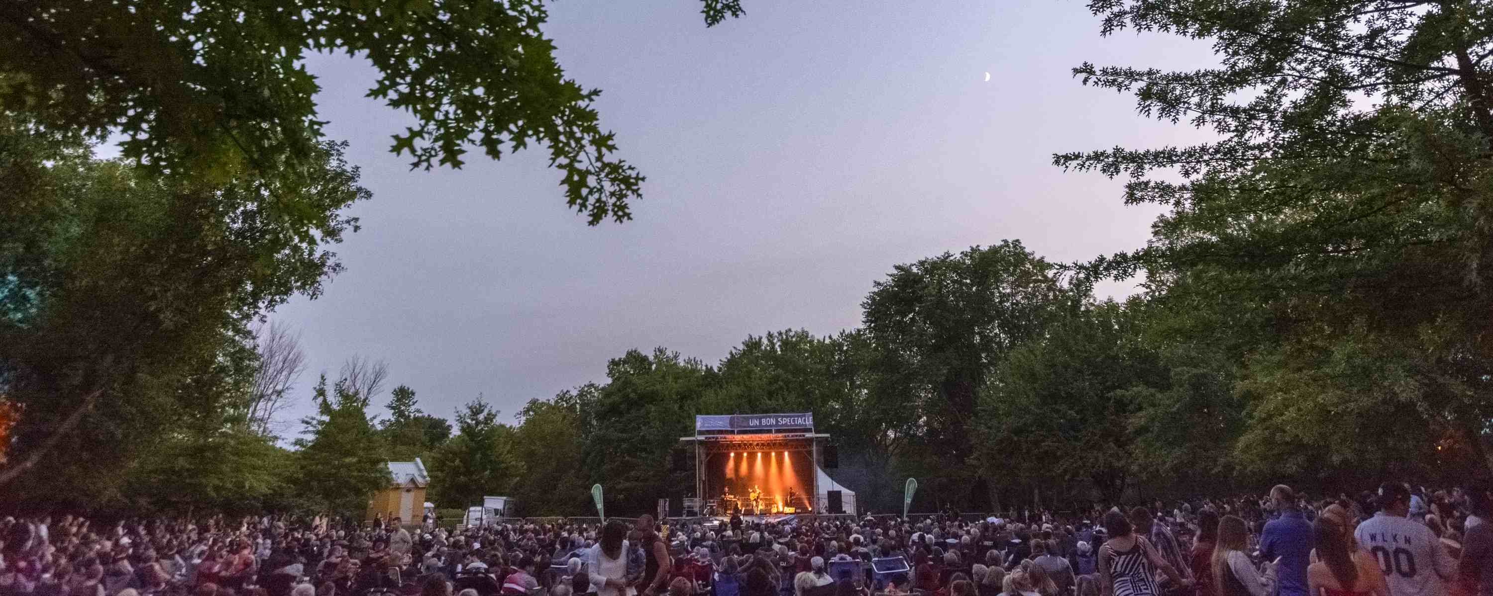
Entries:
MULTIPOLYGON (((630 350, 605 381, 512 419, 478 398, 454 428, 409 387, 372 417, 387 372, 360 362, 311 392, 294 450, 267 425, 294 361, 254 322, 320 295, 358 225, 346 209, 369 198, 321 136, 303 52, 412 40, 370 54, 372 92, 415 116, 393 150, 418 167, 460 165, 467 142, 496 158, 540 140, 591 224, 627 219, 642 177, 612 155, 594 91, 561 76, 542 3, 396 19, 75 4, 0 19, 21 48, 0 57, 0 489, 16 507, 345 510, 381 481, 375 460, 428 454, 442 505, 506 490, 526 513, 576 513, 576 489, 603 481, 642 511, 687 484, 667 453, 693 414, 766 410, 814 411, 879 510, 906 475, 987 508, 1199 475, 1339 490, 1493 468, 1487 3, 1093 0, 1100 34, 1202 39, 1220 58, 1073 69, 1217 137, 1054 155, 1166 209, 1144 247, 1059 264, 1009 240, 893 265, 867 280, 858 329, 748 337, 717 364, 630 350), (427 54, 436 30, 470 43, 427 54), (511 101, 451 103, 473 80, 512 82, 482 94, 511 101), (124 159, 93 156, 109 130, 130 137, 124 159), (1142 291, 1097 299, 1103 279, 1142 291), (334 472, 357 481, 288 489, 334 472)), ((703 4, 708 24, 742 15, 703 4)))

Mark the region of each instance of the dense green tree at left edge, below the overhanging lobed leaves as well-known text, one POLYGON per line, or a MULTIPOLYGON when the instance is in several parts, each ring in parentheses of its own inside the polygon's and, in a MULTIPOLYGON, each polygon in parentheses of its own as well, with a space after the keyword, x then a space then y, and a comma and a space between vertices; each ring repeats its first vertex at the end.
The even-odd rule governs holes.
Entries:
POLYGON ((357 228, 342 210, 367 191, 342 148, 320 145, 300 185, 273 185, 302 213, 290 221, 254 209, 263 179, 152 176, 0 116, 0 392, 24 405, 0 484, 76 474, 69 492, 99 495, 142 435, 248 411, 248 323, 318 295, 340 270, 330 244, 357 228))

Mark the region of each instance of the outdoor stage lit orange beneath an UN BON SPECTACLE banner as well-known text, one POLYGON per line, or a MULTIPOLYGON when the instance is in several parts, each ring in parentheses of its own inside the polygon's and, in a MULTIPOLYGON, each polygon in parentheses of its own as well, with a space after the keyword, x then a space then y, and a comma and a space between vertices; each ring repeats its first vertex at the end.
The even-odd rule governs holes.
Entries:
POLYGON ((854 514, 855 493, 821 466, 836 459, 829 438, 814 414, 696 416, 694 437, 679 438, 694 453, 685 516, 854 514))

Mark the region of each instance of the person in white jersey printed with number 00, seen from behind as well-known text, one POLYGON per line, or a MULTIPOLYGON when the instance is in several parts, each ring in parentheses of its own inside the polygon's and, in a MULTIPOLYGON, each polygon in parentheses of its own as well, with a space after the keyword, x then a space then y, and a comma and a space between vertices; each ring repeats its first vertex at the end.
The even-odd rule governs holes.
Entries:
POLYGON ((1399 483, 1380 486, 1380 513, 1359 524, 1359 545, 1378 559, 1388 580, 1390 596, 1441 596, 1456 577, 1457 560, 1447 554, 1436 535, 1405 516, 1409 490, 1399 483))

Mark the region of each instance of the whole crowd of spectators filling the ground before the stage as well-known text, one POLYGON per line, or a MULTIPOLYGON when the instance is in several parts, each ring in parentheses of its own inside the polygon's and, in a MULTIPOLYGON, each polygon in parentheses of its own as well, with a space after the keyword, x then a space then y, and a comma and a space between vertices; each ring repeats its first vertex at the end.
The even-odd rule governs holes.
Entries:
POLYGON ((1489 522, 1486 486, 1397 483, 1020 519, 64 516, 0 522, 0 596, 1493 596, 1489 522))

